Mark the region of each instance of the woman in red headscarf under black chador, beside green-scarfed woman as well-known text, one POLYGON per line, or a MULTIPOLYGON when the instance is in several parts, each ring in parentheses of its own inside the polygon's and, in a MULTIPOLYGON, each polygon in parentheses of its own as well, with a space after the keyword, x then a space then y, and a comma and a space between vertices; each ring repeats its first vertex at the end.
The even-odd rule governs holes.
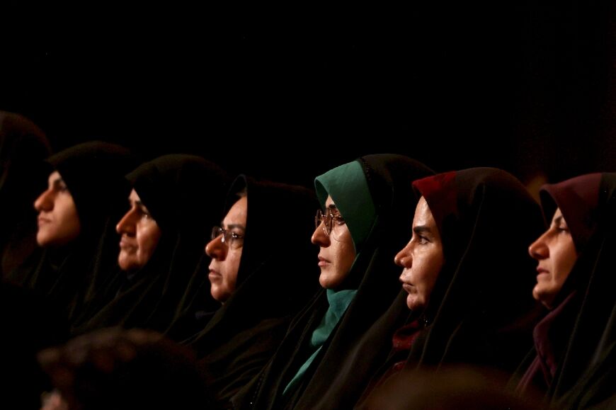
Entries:
POLYGON ((364 341, 380 335, 391 351, 360 408, 404 368, 513 372, 530 343, 536 309, 525 291, 533 280, 526 244, 544 226, 537 203, 520 181, 491 168, 440 173, 413 187, 421 195, 413 236, 395 258, 404 290, 364 341), (411 312, 392 334, 401 306, 411 312))

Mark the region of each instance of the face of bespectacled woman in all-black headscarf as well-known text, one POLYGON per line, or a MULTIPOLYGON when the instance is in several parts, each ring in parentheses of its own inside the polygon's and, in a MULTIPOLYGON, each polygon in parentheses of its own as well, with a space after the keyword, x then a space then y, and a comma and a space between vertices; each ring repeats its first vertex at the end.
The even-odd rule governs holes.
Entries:
POLYGON ((244 249, 247 213, 248 199, 239 198, 222 220, 224 232, 205 246, 205 253, 212 258, 208 275, 212 284, 210 292, 218 302, 226 302, 235 291, 241 251, 244 249))

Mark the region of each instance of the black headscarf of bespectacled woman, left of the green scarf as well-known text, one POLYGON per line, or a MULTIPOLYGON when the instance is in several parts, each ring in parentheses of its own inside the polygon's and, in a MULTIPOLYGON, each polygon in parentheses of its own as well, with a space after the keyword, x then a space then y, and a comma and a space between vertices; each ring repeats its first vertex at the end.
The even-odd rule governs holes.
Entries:
POLYGON ((318 289, 317 249, 310 243, 314 193, 239 176, 226 210, 244 189, 248 212, 236 289, 205 329, 186 341, 223 408, 266 365, 292 317, 318 289))

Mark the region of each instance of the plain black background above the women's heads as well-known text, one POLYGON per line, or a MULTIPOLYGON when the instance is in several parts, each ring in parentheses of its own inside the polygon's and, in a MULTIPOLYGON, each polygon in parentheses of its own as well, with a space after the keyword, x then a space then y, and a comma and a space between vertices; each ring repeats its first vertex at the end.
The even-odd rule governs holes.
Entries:
POLYGON ((525 182, 616 170, 612 1, 223 3, 9 2, 0 109, 55 150, 306 185, 376 152, 525 182))

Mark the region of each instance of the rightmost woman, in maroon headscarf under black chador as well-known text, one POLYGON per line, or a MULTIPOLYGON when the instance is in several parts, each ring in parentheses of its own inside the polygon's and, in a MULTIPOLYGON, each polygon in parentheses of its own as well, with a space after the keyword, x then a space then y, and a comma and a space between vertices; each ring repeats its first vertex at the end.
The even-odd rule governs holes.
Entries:
POLYGON ((552 222, 529 247, 532 295, 549 312, 515 380, 520 394, 536 389, 556 409, 614 405, 615 188, 615 173, 591 173, 540 192, 552 222))

